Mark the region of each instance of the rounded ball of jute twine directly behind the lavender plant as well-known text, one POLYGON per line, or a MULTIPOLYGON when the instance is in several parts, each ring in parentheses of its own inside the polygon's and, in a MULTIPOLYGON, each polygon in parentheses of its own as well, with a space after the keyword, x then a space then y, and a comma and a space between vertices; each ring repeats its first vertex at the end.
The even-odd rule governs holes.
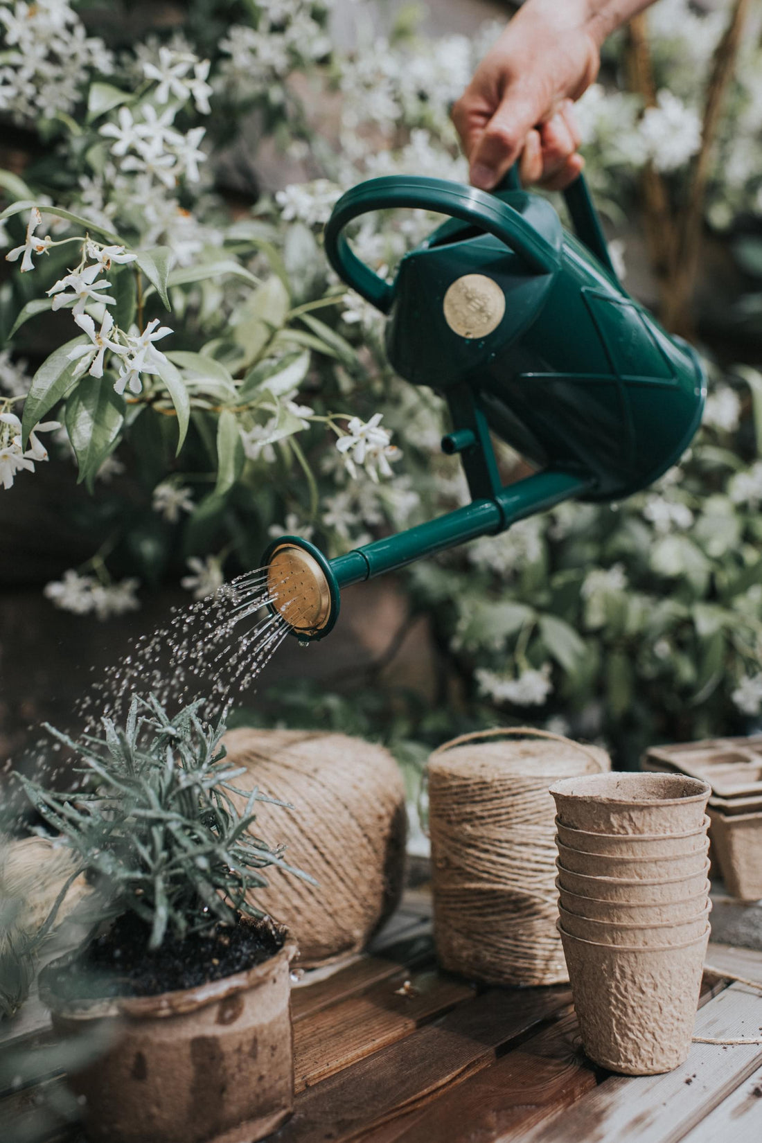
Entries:
POLYGON ((394 758, 343 734, 242 728, 224 743, 228 760, 248 770, 233 785, 292 807, 258 802, 255 832, 286 842, 286 861, 318 882, 266 869, 255 904, 288 926, 302 967, 359 952, 402 893, 407 818, 394 758))

